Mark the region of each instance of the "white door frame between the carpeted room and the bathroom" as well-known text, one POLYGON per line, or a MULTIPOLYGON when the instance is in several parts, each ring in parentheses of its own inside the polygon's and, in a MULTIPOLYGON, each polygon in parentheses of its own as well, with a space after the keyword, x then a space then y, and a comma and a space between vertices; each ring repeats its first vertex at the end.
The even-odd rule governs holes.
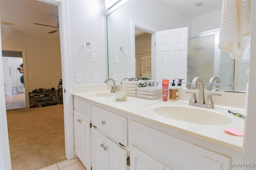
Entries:
POLYGON ((71 66, 70 59, 70 34, 68 21, 68 1, 66 0, 38 0, 48 4, 58 6, 59 26, 60 26, 60 54, 61 54, 61 68, 62 68, 62 88, 63 92, 63 111, 64 111, 64 135, 65 135, 65 152, 68 160, 75 157, 74 150, 74 123, 73 123, 73 98, 72 98, 72 84, 70 82, 71 66))

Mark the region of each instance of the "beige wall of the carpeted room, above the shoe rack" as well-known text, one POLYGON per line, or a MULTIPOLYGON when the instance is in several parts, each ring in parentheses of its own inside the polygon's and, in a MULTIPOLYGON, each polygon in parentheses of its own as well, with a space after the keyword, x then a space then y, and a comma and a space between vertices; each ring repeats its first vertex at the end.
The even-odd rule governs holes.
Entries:
POLYGON ((27 68, 24 71, 27 71, 28 76, 34 75, 34 78, 27 79, 28 92, 38 88, 58 87, 58 81, 62 78, 60 40, 3 31, 1 35, 2 49, 26 51, 23 68, 27 68))

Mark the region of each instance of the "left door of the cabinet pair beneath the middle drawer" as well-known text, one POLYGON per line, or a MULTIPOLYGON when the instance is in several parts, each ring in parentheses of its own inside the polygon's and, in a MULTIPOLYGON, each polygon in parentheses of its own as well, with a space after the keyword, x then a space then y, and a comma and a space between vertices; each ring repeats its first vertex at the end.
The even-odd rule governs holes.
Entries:
POLYGON ((105 152, 103 150, 103 135, 92 128, 92 170, 104 170, 105 152))

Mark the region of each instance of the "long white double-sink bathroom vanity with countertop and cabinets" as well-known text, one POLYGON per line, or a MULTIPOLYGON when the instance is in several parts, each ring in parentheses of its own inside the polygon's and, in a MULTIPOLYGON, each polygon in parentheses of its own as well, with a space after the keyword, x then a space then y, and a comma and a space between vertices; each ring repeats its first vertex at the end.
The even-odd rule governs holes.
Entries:
POLYGON ((244 94, 210 92, 222 96, 208 109, 189 105, 186 92, 198 90, 179 89, 176 102, 117 102, 106 84, 74 89, 75 153, 87 170, 235 170, 244 162, 243 137, 224 131, 244 130, 244 119, 228 113, 244 113, 244 94))

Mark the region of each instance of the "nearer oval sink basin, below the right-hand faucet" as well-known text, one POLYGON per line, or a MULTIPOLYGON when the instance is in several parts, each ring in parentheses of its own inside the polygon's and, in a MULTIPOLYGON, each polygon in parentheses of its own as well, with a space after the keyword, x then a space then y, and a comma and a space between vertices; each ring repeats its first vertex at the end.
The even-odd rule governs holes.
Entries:
POLYGON ((147 107, 167 119, 183 121, 188 123, 197 123, 202 125, 228 125, 232 122, 229 117, 222 113, 202 107, 194 107, 188 105, 151 105, 147 107))

